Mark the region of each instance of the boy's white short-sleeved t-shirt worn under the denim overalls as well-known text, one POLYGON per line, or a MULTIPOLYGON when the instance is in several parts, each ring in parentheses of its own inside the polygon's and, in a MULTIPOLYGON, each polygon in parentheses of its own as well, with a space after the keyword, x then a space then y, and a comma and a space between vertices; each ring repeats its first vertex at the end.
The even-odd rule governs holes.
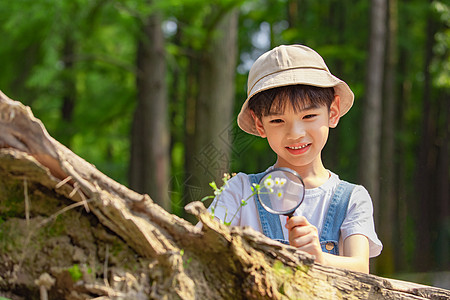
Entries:
MULTIPOLYGON (((306 189, 305 198, 294 212, 294 216, 305 216, 312 225, 317 227, 320 233, 325 214, 339 182, 338 175, 330 172, 330 178, 323 185, 313 189, 306 189)), ((250 226, 262 232, 255 200, 251 195, 252 190, 248 175, 239 173, 228 181, 227 187, 221 195, 214 199, 209 210, 211 211, 211 208, 215 206, 214 216, 220 220, 224 222, 231 221, 233 226, 250 226), (250 199, 248 199, 249 197, 250 199), (239 210, 241 200, 247 200, 247 205, 239 210), (218 201, 217 205, 216 201, 218 201)), ((286 217, 281 215, 280 222, 284 237, 288 240, 288 231, 284 227, 286 217)), ((361 185, 356 185, 353 190, 348 204, 347 215, 341 226, 342 240, 353 234, 362 234, 369 239, 370 257, 380 254, 383 246, 375 232, 372 200, 367 190, 361 185)))

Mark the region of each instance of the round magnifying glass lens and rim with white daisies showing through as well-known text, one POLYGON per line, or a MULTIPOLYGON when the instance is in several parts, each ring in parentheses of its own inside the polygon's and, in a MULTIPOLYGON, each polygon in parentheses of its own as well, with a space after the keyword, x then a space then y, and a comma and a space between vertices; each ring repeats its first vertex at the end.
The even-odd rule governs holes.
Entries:
POLYGON ((297 172, 274 168, 259 181, 258 200, 268 212, 292 217, 305 198, 305 184, 297 172))

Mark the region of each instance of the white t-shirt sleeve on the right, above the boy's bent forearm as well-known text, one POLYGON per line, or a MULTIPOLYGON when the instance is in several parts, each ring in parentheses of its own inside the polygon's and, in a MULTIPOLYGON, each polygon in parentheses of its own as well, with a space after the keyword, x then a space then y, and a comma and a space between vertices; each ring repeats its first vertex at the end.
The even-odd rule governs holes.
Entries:
POLYGON ((372 199, 361 185, 353 190, 341 234, 343 240, 353 234, 362 234, 369 239, 369 256, 375 257, 381 253, 383 245, 375 232, 372 199))

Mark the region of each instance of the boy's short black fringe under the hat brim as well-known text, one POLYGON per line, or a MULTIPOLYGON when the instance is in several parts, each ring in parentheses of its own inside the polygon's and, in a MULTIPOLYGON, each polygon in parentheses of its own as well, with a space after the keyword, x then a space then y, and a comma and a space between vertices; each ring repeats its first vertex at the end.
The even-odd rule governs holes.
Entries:
POLYGON ((290 103, 294 112, 301 111, 306 107, 331 107, 334 100, 334 89, 332 87, 322 88, 311 85, 288 85, 276 87, 257 93, 248 102, 248 108, 261 119, 271 113, 282 113, 286 103, 290 103))

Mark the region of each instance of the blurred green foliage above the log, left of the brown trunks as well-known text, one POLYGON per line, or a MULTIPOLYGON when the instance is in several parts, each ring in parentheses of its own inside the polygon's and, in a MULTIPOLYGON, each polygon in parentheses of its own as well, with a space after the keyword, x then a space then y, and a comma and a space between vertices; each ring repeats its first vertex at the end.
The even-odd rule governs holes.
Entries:
POLYGON ((0 47, 1 63, 11 70, 16 65, 9 74, 19 72, 1 77, 2 89, 31 104, 56 139, 126 183, 136 20, 109 3, 81 0, 3 2, 0 10, 9 11, 2 31, 6 44, 14 45, 0 47), (70 57, 64 57, 67 43, 73 45, 70 57), (23 80, 11 82, 14 77, 23 80), (67 89, 68 80, 75 90, 67 89), (70 123, 61 115, 68 95, 75 99, 70 123))

